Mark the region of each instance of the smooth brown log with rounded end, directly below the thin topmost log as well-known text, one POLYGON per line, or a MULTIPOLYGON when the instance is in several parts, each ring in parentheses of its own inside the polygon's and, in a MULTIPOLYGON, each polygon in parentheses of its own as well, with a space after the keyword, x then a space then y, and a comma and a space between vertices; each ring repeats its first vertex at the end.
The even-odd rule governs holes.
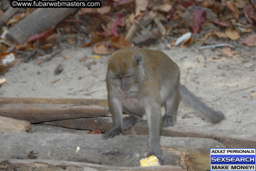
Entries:
POLYGON ((0 116, 24 119, 31 123, 61 119, 104 116, 109 108, 76 104, 0 104, 0 116))

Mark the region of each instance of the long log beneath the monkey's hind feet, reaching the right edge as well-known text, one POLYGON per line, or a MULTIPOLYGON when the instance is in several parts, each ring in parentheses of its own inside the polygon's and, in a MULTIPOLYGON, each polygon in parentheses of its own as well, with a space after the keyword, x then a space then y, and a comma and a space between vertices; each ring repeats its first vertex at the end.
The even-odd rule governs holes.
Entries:
MULTIPOLYGON (((107 132, 112 127, 112 119, 111 117, 67 119, 63 121, 45 122, 43 124, 84 130, 94 130, 94 128, 98 128, 102 132, 107 132)), ((128 131, 124 131, 124 134, 148 134, 147 121, 137 123, 135 127, 128 131)), ((255 148, 256 144, 256 134, 182 124, 175 124, 173 127, 162 128, 161 135, 209 138, 221 142, 227 148, 255 148)))

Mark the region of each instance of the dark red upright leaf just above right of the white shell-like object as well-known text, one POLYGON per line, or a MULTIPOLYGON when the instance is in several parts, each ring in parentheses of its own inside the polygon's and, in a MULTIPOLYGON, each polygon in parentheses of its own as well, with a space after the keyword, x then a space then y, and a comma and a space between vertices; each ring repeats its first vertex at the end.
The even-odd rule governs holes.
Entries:
POLYGON ((201 25, 206 20, 206 12, 203 9, 197 8, 193 11, 194 23, 193 23, 193 33, 194 35, 200 30, 201 25))

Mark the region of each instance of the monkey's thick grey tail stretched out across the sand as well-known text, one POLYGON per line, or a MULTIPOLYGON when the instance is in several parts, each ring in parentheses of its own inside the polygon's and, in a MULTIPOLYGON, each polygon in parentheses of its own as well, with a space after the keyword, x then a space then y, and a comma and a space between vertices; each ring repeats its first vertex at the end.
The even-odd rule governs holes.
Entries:
POLYGON ((210 119, 212 123, 218 123, 225 119, 221 111, 215 111, 207 104, 200 101, 200 99, 191 93, 184 85, 179 84, 179 90, 181 100, 193 110, 198 111, 203 118, 210 119))

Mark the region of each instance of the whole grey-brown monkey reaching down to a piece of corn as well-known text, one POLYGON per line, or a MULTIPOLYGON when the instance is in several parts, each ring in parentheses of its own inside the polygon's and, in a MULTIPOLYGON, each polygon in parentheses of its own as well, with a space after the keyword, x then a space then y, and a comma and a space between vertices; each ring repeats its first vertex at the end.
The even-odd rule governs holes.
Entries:
POLYGON ((125 47, 114 52, 108 60, 106 73, 113 128, 102 138, 122 134, 146 115, 150 144, 147 157, 154 155, 163 165, 161 129, 174 125, 180 100, 212 123, 225 119, 221 111, 208 107, 179 81, 179 66, 163 52, 139 47, 125 47), (161 106, 165 107, 163 117, 161 106), (123 113, 129 116, 122 118, 123 113))

